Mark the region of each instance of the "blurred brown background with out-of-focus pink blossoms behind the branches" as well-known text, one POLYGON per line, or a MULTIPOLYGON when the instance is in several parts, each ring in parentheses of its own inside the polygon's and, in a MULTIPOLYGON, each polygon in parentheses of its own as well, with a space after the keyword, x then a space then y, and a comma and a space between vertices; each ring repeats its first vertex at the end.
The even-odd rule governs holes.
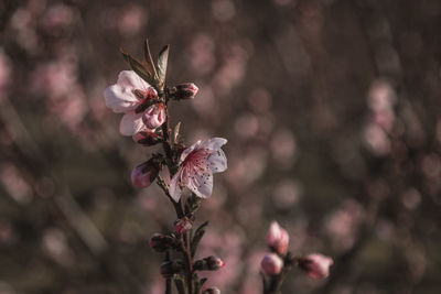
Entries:
POLYGON ((148 240, 174 211, 133 166, 155 149, 118 133, 103 90, 171 44, 187 145, 224 137, 228 170, 198 213, 208 284, 261 293, 271 220, 294 254, 282 293, 440 293, 441 1, 0 2, 0 293, 163 293, 148 240))

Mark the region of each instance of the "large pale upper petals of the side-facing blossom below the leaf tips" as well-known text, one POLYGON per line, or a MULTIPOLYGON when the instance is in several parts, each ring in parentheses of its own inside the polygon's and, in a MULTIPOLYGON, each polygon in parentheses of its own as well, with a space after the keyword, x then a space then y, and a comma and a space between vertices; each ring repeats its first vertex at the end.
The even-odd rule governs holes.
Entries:
POLYGON ((150 87, 133 70, 122 70, 117 84, 107 87, 104 91, 106 106, 114 112, 127 112, 137 108, 140 99, 133 94, 133 90, 147 90, 150 87))

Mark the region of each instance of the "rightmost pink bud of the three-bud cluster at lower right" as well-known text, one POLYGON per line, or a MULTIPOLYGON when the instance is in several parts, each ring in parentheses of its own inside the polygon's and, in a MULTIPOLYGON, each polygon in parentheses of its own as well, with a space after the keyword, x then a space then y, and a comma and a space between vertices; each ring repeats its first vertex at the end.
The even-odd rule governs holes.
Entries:
POLYGON ((330 266, 334 263, 331 258, 320 253, 298 258, 297 261, 299 268, 312 279, 324 279, 330 275, 330 266))

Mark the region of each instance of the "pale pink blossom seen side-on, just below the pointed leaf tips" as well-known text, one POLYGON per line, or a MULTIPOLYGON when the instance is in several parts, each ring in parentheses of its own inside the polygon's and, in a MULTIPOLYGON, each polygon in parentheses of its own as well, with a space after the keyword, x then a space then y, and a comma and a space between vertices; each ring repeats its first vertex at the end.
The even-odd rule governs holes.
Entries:
POLYGON ((117 84, 104 91, 106 106, 114 112, 125 113, 119 124, 123 135, 133 135, 144 127, 142 121, 143 107, 147 100, 157 96, 157 91, 133 70, 122 70, 117 84))

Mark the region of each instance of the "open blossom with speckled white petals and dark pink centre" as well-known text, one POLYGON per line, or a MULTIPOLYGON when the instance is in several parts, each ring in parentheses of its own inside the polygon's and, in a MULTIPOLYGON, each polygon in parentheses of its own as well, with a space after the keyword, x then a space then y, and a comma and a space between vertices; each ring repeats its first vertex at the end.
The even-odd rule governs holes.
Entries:
POLYGON ((227 159, 220 149, 226 142, 223 138, 212 138, 197 141, 182 152, 178 173, 170 182, 170 195, 175 202, 184 187, 202 198, 212 195, 213 174, 227 168, 227 159))

